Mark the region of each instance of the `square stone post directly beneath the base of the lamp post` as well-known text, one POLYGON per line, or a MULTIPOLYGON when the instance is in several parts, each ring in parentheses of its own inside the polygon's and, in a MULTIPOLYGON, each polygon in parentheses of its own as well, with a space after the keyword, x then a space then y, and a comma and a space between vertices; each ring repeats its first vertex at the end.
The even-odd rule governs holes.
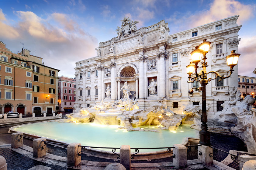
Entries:
POLYGON ((199 146, 199 151, 202 152, 202 155, 199 155, 198 152, 198 159, 201 161, 203 165, 209 166, 213 165, 213 157, 210 157, 210 153, 213 153, 213 148, 210 148, 210 146, 199 146))

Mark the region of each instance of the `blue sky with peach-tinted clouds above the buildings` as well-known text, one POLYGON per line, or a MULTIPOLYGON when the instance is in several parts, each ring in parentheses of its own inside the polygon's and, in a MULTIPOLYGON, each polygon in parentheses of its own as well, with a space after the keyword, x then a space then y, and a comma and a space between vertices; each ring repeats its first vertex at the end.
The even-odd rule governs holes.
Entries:
POLYGON ((43 57, 45 65, 74 77, 75 62, 96 56, 99 42, 117 37, 123 17, 137 28, 161 20, 174 34, 240 15, 239 75, 255 77, 256 2, 254 0, 0 0, 0 41, 13 53, 24 48, 43 57))

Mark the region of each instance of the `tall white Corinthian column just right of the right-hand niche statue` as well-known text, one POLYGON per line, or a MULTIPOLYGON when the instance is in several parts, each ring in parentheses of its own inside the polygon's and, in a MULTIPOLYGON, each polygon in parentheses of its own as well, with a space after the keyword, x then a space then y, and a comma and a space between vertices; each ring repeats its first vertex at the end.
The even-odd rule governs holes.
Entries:
POLYGON ((158 97, 165 97, 165 62, 164 59, 168 57, 165 51, 157 54, 158 59, 158 71, 159 71, 159 79, 157 82, 158 88, 158 97))

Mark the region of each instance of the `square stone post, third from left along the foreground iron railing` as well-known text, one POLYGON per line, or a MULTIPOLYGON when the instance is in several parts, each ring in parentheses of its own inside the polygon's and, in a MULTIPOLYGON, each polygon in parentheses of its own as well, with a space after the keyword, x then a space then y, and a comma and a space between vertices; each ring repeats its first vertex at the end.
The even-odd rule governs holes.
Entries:
POLYGON ((67 146, 67 166, 77 166, 81 162, 78 153, 81 152, 81 143, 71 143, 67 146))

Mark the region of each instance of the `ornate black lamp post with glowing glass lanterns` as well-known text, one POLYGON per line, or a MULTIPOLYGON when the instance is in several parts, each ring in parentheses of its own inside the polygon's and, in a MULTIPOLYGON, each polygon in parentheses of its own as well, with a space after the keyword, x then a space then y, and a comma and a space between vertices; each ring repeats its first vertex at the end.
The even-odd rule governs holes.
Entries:
POLYGON ((187 66, 187 73, 189 74, 189 81, 188 83, 193 83, 195 81, 199 81, 199 83, 201 84, 202 87, 200 88, 191 88, 189 90, 189 94, 193 94, 193 89, 198 89, 199 91, 202 91, 202 117, 201 117, 201 122, 202 122, 202 130, 199 132, 200 135, 200 141, 199 144, 200 145, 206 145, 206 146, 210 146, 210 132, 208 132, 208 127, 207 127, 207 114, 206 114, 206 85, 208 84, 209 81, 216 79, 217 77, 220 77, 220 80, 226 79, 228 77, 231 76, 231 74, 233 73, 233 68, 235 65, 237 65, 237 61, 238 58, 240 56, 240 54, 236 54, 235 50, 231 51, 231 54, 228 55, 227 58, 227 65, 230 67, 230 74, 227 77, 223 77, 221 76, 218 72, 216 71, 209 71, 208 73, 206 72, 206 67, 207 62, 206 62, 206 54, 209 51, 209 47, 210 47, 211 42, 203 40, 203 42, 199 45, 195 47, 195 50, 192 51, 191 57, 192 57, 192 62, 190 62, 190 64, 187 66), (200 58, 203 55, 203 62, 202 62, 202 70, 197 73, 197 64, 200 62, 200 58), (194 72, 195 70, 195 77, 192 77, 191 74, 194 72), (207 75, 209 73, 214 73, 216 74, 215 78, 208 78, 207 79, 207 75))

